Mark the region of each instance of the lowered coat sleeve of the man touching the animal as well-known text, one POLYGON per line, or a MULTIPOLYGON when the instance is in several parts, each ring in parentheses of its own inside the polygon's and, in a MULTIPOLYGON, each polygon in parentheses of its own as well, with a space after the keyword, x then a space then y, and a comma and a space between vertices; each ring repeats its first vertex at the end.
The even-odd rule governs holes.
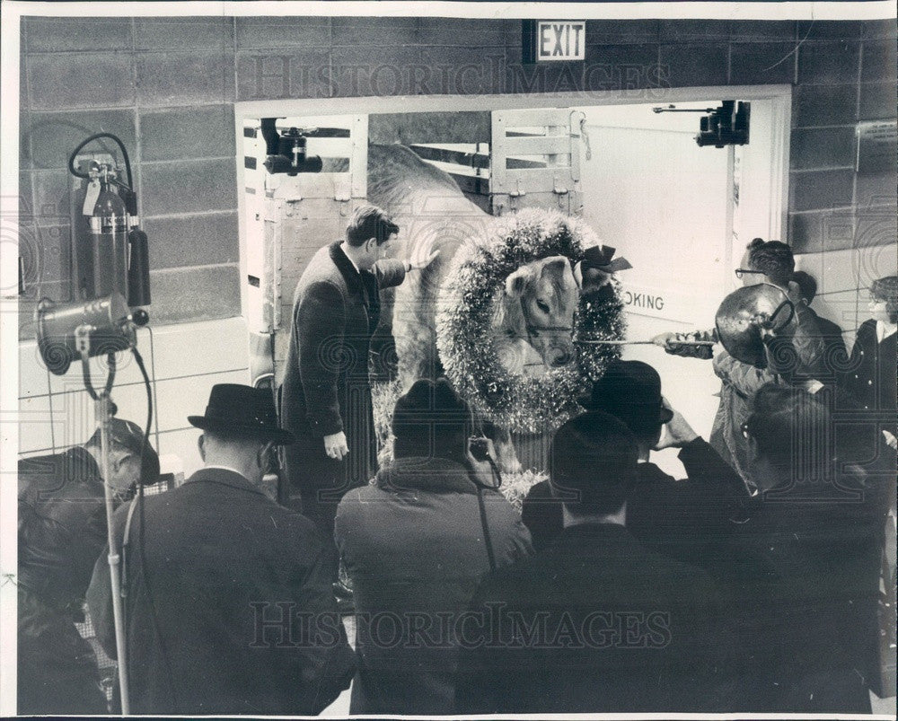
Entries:
POLYGON ((339 433, 339 365, 344 353, 351 352, 343 338, 346 305, 339 288, 329 281, 306 288, 295 304, 293 323, 309 426, 314 435, 339 433))

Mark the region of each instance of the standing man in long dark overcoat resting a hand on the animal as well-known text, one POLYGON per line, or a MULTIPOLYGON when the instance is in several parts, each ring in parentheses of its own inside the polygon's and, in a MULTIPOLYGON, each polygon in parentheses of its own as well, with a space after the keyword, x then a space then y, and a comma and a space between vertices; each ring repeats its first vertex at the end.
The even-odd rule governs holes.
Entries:
POLYGON ((283 500, 319 528, 335 572, 337 504, 349 488, 365 485, 377 466, 368 362, 379 291, 433 259, 385 259, 398 232, 380 208, 358 207, 346 240, 315 253, 294 295, 281 413, 296 443, 286 452, 283 500))

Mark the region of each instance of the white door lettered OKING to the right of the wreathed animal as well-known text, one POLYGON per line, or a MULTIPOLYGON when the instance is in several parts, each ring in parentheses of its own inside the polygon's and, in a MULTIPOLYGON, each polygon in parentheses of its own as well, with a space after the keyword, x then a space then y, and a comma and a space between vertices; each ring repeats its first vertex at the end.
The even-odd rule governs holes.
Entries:
MULTIPOLYGON (((675 107, 704 110, 724 99, 675 107)), ((788 118, 779 117, 780 105, 752 101, 749 145, 719 149, 695 142, 700 113, 653 111, 664 103, 577 108, 584 119, 583 217, 633 265, 620 274, 627 339, 713 328, 718 304, 737 284, 745 244, 756 236, 781 237, 788 118)), ((623 357, 655 367, 674 408, 709 438, 720 387, 709 361, 638 345, 626 346, 623 357)), ((653 460, 682 477, 674 450, 653 460)))

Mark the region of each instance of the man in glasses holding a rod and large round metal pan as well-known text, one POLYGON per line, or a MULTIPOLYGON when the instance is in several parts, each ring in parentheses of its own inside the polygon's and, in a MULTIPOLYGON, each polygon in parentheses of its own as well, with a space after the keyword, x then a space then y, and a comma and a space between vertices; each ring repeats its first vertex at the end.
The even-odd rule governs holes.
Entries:
POLYGON ((720 453, 742 478, 753 483, 748 470, 747 447, 740 430, 748 418, 748 400, 765 383, 806 385, 817 389, 817 379, 826 378, 825 347, 814 317, 808 312, 797 283, 792 281, 795 258, 792 249, 784 242, 755 238, 745 248, 745 254, 736 277, 744 286, 766 283, 778 287, 795 304, 795 322, 790 323, 788 335, 763 330, 762 338, 767 348, 767 366, 758 368, 731 356, 723 348, 715 354, 710 346, 683 345, 687 340, 718 340, 714 330, 691 334, 663 333, 654 339, 656 344, 675 356, 692 356, 711 359, 714 373, 721 381, 720 405, 711 427, 709 443, 720 453), (788 346, 783 348, 783 346, 788 346), (786 350, 781 353, 779 351, 786 350), (784 363, 783 358, 788 358, 784 363))

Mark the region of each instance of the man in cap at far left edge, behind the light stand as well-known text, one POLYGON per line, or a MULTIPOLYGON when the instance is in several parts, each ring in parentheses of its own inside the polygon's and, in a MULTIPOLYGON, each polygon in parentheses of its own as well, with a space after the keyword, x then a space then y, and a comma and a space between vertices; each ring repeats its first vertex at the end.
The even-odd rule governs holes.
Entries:
MULTIPOLYGON (((101 437, 19 462, 18 707, 22 715, 105 714, 96 659, 75 628, 93 564, 106 544, 103 482, 116 496, 154 483, 159 457, 123 418, 110 423, 110 468, 101 437)), ((105 561, 106 557, 103 557, 105 561)))

